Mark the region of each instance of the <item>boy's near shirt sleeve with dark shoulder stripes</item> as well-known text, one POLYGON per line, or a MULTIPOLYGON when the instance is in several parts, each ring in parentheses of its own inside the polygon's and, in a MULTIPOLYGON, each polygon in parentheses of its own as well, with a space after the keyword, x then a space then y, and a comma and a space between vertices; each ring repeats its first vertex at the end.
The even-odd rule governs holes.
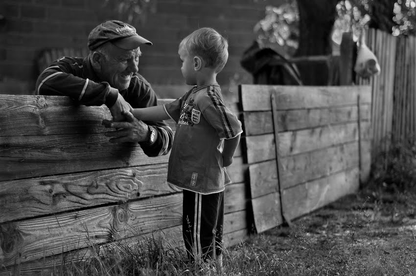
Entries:
POLYGON ((243 132, 238 120, 221 100, 214 101, 202 112, 207 122, 215 128, 220 139, 231 139, 243 132))

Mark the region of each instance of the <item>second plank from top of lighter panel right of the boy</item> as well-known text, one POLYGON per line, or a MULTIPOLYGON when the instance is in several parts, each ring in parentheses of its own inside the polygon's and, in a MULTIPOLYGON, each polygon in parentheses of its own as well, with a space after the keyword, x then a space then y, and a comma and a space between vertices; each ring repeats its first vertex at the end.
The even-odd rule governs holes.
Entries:
MULTIPOLYGON (((278 131, 298 130, 357 121, 357 106, 311 108, 277 111, 278 131)), ((271 111, 250 111, 243 113, 246 136, 273 132, 271 111)), ((370 119, 370 105, 360 106, 361 120, 370 119)))

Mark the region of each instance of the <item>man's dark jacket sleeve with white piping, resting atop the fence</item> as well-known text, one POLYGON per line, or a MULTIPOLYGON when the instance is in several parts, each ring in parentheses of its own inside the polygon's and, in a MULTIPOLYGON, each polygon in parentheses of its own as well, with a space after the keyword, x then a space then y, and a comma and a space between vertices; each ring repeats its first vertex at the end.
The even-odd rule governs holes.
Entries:
POLYGON ((116 103, 118 90, 106 82, 95 83, 82 78, 83 64, 75 59, 62 58, 49 65, 36 81, 36 94, 69 96, 85 106, 111 107, 116 103))

